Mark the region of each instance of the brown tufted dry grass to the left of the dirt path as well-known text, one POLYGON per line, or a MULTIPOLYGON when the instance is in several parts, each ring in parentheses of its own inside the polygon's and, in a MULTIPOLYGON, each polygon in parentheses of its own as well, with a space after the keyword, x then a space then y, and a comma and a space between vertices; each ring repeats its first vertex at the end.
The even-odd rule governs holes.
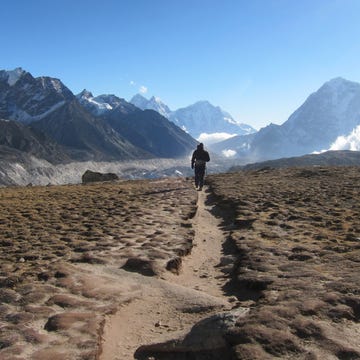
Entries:
POLYGON ((104 314, 139 295, 111 269, 165 271, 195 204, 185 179, 0 189, 0 358, 95 358, 104 314))

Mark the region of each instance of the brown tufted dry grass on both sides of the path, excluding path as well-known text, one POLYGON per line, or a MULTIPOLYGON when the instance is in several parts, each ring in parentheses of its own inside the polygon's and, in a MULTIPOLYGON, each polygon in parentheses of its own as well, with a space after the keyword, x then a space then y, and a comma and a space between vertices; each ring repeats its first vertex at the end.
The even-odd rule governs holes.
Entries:
MULTIPOLYGON (((359 359, 359 168, 207 181, 235 248, 224 290, 250 308, 233 357, 359 359)), ((119 269, 160 275, 191 251, 186 179, 4 188, 0 205, 0 359, 96 358, 104 314, 141 297, 119 269)))

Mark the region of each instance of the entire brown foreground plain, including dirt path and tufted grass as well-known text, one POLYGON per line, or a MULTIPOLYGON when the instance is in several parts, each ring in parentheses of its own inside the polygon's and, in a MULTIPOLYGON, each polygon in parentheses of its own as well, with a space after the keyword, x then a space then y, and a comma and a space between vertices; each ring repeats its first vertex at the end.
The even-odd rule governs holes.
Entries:
POLYGON ((360 169, 0 189, 0 359, 359 359, 360 169))

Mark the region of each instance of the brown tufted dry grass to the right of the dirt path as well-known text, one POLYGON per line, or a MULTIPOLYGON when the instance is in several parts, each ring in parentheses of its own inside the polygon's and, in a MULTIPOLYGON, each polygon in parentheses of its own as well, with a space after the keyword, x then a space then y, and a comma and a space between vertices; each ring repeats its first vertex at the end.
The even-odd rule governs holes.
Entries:
POLYGON ((264 169, 208 179, 239 257, 250 316, 236 357, 360 358, 360 169, 264 169))

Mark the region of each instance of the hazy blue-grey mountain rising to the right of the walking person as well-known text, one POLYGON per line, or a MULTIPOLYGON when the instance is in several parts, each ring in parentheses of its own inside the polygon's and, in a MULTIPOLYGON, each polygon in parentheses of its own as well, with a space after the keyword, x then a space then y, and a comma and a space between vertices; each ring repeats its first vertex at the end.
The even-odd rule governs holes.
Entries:
POLYGON ((326 82, 282 125, 270 124, 255 134, 215 144, 244 163, 300 156, 330 149, 339 136, 360 125, 360 84, 335 78, 326 82))

